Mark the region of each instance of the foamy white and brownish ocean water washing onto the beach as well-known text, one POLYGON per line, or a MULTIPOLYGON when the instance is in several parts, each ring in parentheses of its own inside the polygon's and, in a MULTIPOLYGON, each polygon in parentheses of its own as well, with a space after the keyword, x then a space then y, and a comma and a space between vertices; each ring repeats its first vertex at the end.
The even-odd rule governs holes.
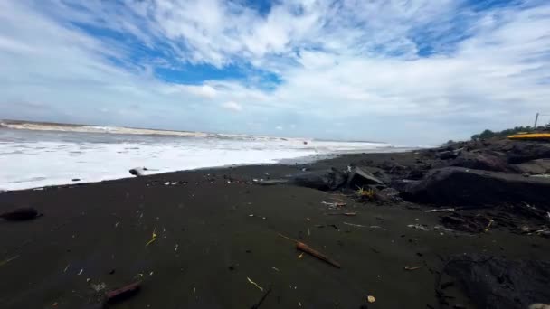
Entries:
POLYGON ((166 173, 400 149, 375 142, 0 123, 0 191, 133 177, 128 170, 134 167, 166 173))

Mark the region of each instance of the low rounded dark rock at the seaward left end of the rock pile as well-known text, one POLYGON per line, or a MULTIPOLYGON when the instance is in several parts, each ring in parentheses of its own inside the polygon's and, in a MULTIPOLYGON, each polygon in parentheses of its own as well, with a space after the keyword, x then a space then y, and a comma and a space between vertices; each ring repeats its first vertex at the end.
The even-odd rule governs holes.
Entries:
POLYGON ((347 175, 332 168, 328 171, 299 173, 291 177, 291 182, 307 188, 322 191, 337 190, 346 183, 347 175))

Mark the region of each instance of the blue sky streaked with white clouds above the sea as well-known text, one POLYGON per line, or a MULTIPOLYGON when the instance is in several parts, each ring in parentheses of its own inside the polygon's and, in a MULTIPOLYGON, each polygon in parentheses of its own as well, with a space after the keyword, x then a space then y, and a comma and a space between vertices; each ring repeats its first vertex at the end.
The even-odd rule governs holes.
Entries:
POLYGON ((0 1, 0 118, 427 145, 536 112, 547 0, 0 1))

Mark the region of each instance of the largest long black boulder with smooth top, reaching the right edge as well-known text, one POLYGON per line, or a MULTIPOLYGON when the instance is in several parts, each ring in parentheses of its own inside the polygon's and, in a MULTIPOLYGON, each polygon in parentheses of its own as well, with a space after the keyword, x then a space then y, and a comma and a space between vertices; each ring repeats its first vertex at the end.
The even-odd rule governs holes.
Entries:
POLYGON ((408 201, 475 207, 526 202, 550 209, 550 179, 444 167, 431 170, 402 192, 408 201))

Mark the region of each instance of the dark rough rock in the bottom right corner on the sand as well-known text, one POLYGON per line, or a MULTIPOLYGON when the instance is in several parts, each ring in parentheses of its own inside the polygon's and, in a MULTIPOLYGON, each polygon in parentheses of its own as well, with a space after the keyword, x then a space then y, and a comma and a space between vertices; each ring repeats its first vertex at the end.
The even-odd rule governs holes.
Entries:
POLYGON ((528 308, 550 299, 548 261, 460 255, 444 272, 456 278, 477 308, 528 308))

